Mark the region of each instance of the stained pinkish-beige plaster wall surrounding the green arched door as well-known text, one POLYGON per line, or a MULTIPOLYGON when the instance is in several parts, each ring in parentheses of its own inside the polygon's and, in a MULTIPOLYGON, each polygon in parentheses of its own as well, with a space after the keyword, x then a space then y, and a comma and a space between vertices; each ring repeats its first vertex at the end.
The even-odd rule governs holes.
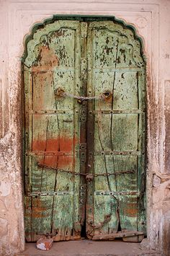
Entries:
POLYGON ((143 37, 147 57, 148 246, 170 254, 170 1, 0 0, 0 255, 24 250, 21 61, 24 36, 53 14, 113 15, 143 37))

